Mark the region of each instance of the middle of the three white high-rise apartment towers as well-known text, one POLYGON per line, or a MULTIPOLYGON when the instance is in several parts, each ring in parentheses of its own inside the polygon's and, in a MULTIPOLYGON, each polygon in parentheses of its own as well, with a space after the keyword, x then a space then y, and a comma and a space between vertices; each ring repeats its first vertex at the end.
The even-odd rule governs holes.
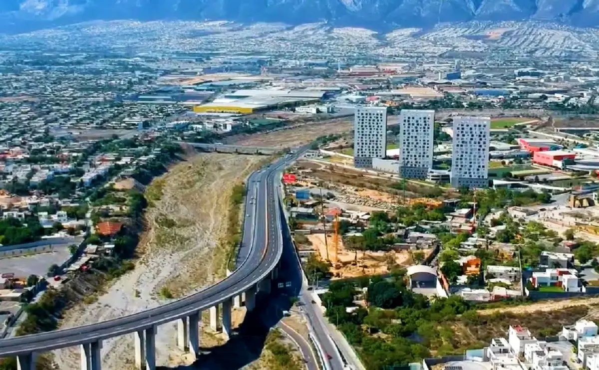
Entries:
POLYGON ((435 111, 403 109, 400 114, 400 175, 426 178, 432 168, 435 111))

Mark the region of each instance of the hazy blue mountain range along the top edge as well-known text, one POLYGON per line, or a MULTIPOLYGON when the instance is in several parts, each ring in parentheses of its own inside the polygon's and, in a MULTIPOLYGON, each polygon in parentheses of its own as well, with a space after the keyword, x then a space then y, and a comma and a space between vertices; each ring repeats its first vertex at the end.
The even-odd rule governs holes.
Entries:
POLYGON ((0 32, 89 20, 329 22, 371 29, 471 20, 599 26, 599 0, 0 0, 0 32))

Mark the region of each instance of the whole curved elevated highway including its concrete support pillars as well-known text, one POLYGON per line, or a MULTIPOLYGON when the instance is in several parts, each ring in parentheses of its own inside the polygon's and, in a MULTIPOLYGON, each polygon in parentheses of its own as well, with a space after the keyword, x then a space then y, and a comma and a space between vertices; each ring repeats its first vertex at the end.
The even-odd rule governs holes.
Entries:
POLYGON ((134 335, 137 369, 156 368, 156 327, 177 322, 177 344, 183 350, 199 354, 201 312, 210 310, 210 326, 222 326, 231 333, 231 308, 245 297, 246 308, 255 308, 256 292, 270 292, 271 278, 278 274, 283 239, 280 223, 280 197, 277 186, 286 163, 303 151, 277 160, 247 180, 246 217, 240 249, 240 263, 228 277, 192 295, 151 310, 118 319, 53 332, 0 340, 0 357, 17 357, 20 370, 35 369, 35 355, 58 348, 79 346, 81 369, 100 370, 102 341, 120 335, 134 335), (219 321, 219 310, 222 319, 219 321))

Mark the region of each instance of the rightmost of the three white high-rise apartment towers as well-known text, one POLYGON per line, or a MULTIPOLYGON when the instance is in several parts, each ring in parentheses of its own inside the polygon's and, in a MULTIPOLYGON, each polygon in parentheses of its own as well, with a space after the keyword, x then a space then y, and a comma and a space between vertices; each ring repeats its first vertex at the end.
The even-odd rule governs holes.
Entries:
POLYGON ((453 117, 453 187, 489 185, 489 117, 453 117))

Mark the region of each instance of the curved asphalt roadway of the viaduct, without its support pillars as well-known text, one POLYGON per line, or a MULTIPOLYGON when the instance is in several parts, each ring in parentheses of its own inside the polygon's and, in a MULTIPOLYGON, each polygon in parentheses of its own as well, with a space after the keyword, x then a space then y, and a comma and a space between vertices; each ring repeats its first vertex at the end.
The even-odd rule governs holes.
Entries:
POLYGON ((206 310, 255 286, 270 274, 282 254, 279 196, 275 184, 288 160, 278 160, 264 171, 254 172, 247 182, 244 236, 240 254, 243 263, 229 277, 198 293, 178 301, 86 326, 0 340, 0 357, 56 350, 113 338, 138 330, 173 322, 200 310, 206 310), (252 201, 252 194, 255 199, 252 201), (250 204, 252 202, 253 204, 250 204))

